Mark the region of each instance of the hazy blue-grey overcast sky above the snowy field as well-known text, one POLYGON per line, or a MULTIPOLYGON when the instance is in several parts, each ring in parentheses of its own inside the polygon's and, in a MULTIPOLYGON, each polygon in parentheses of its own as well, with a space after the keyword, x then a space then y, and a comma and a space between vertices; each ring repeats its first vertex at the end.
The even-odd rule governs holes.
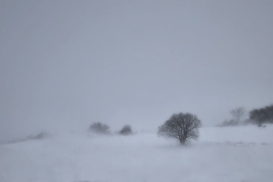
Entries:
POLYGON ((157 132, 273 103, 272 1, 1 1, 0 140, 157 132))

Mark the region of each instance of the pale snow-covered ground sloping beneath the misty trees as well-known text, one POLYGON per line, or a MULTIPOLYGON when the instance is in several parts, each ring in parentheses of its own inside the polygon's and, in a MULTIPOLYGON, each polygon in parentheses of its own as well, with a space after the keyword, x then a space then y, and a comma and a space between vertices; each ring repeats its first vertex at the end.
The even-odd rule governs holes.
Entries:
POLYGON ((0 145, 1 182, 272 182, 273 125, 201 128, 180 146, 156 134, 71 134, 0 145))

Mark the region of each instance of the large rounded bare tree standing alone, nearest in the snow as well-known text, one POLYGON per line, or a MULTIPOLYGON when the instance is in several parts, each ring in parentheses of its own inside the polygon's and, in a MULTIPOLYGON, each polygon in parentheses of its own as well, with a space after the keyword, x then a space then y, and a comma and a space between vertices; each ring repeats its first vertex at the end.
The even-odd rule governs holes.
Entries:
POLYGON ((158 136, 178 139, 184 144, 190 138, 197 140, 201 121, 191 113, 174 113, 170 119, 158 127, 158 136))

